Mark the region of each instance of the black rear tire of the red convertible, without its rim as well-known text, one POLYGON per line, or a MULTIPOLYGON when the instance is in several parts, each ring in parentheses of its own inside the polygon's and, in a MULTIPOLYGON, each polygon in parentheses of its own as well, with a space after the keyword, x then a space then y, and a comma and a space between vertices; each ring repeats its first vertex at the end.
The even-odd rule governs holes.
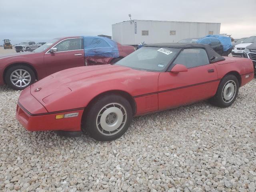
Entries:
POLYGON ((239 82, 238 82, 238 79, 236 78, 236 76, 231 75, 231 74, 226 75, 220 81, 217 92, 216 92, 215 96, 210 99, 210 103, 213 104, 214 106, 218 106, 218 107, 228 107, 228 106, 232 105, 234 103, 234 101, 236 100, 238 90, 239 90, 239 82), (234 94, 232 94, 232 98, 230 98, 230 100, 225 100, 224 87, 228 86, 229 82, 232 83, 233 85, 235 84, 234 87, 236 87, 236 90, 234 90, 234 94))

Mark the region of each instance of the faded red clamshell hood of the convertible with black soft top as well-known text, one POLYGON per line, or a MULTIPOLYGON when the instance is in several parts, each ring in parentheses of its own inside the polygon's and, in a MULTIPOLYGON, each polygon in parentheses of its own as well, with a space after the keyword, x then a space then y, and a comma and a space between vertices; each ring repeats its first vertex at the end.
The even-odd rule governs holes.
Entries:
POLYGON ((123 90, 135 95, 157 91, 158 75, 159 72, 133 70, 110 64, 76 67, 57 72, 34 83, 31 86, 31 94, 48 111, 52 111, 50 104, 59 102, 60 98, 64 99, 65 96, 69 98, 66 101, 70 101, 71 96, 74 98, 86 94, 94 97, 108 90, 123 90), (142 86, 150 80, 155 84, 154 90, 142 86))

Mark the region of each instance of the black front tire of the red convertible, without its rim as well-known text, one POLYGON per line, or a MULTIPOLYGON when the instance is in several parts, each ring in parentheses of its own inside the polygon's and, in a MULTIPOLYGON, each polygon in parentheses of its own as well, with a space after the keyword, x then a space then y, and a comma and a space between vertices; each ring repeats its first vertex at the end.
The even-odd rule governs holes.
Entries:
MULTIPOLYGON (((118 106, 118 105, 116 105, 116 106, 118 106)), ((120 109, 122 110, 122 108, 120 108, 120 109)), ((106 113, 106 114, 108 114, 108 113, 106 113)), ((110 113, 110 114, 115 114, 115 113, 110 113)), ((117 118, 115 121, 117 121, 118 119, 120 120, 120 118, 118 118, 118 115, 116 115, 116 116, 117 116, 117 118)), ((106 117, 106 124, 108 123, 107 117, 106 117)), ((123 116, 122 122, 124 121, 124 118, 125 118, 125 116, 123 116)), ((104 121, 105 121, 105 119, 104 119, 104 121)), ((83 114, 81 127, 82 127, 83 132, 87 132, 95 140, 111 141, 111 140, 115 140, 115 139, 119 138, 120 136, 122 136, 126 132, 126 130, 129 128, 131 121, 132 121, 132 107, 131 107, 130 103, 128 102, 128 100, 126 100, 125 98, 123 98, 122 96, 117 95, 117 94, 109 94, 109 95, 105 95, 105 96, 100 96, 94 102, 89 104, 88 110, 85 111, 85 113, 83 114), (100 112, 105 110, 104 106, 109 106, 112 103, 116 103, 116 104, 119 104, 124 107, 124 109, 126 110, 126 121, 124 123, 122 123, 118 127, 118 129, 112 131, 112 132, 116 132, 116 134, 113 134, 108 131, 110 134, 113 134, 113 135, 106 135, 109 133, 107 131, 105 131, 103 128, 100 131, 99 129, 101 128, 101 124, 96 123, 96 122, 99 122, 99 120, 101 119, 101 116, 104 116, 104 112, 98 118, 97 118, 97 116, 98 116, 98 114, 100 114, 100 112), (98 124, 98 127, 96 124, 98 124)), ((111 123, 113 123, 113 122, 111 122, 111 123)))

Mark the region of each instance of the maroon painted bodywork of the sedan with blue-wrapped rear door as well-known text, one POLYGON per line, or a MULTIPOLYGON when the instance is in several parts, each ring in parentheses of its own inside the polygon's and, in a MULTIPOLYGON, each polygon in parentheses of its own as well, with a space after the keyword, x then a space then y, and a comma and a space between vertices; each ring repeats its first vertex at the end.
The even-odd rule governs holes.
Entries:
MULTIPOLYGON (((7 56, 0 56, 0 85, 5 84, 4 73, 8 66, 13 64, 26 64, 30 66, 35 71, 36 78, 40 80, 50 74, 64 69, 85 65, 110 64, 111 60, 114 59, 110 57, 86 57, 84 56, 84 50, 47 53, 48 50, 58 44, 58 42, 68 38, 80 37, 75 36, 60 38, 43 52, 22 52, 7 56), (88 62, 88 60, 91 62, 88 62)), ((117 44, 120 57, 126 57, 128 54, 134 52, 133 46, 123 46, 119 43, 117 44)))

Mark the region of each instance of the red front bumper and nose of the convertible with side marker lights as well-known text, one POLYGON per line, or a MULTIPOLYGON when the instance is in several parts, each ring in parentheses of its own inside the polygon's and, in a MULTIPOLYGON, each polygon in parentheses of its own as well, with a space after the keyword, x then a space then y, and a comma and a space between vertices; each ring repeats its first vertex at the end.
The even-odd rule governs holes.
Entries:
POLYGON ((30 87, 20 94, 16 108, 16 118, 29 131, 65 130, 80 131, 84 108, 47 112, 47 110, 30 94, 30 87), (78 112, 78 116, 55 119, 56 115, 78 112))

